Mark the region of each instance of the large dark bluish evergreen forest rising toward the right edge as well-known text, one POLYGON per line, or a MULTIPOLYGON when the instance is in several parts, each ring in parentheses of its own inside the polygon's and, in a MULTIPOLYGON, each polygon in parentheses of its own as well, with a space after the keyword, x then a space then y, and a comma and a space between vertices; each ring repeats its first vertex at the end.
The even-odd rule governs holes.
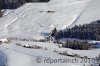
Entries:
POLYGON ((61 38, 76 38, 81 40, 100 40, 100 20, 91 22, 90 24, 75 25, 73 28, 60 30, 56 28, 52 31, 52 36, 56 40, 61 38))

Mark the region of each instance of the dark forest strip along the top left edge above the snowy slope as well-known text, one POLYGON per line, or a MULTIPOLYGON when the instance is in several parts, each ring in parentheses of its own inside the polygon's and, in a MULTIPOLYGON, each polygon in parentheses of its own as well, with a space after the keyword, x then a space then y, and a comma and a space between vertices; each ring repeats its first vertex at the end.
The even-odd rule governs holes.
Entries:
POLYGON ((49 2, 50 0, 0 0, 0 8, 16 9, 28 2, 49 2))

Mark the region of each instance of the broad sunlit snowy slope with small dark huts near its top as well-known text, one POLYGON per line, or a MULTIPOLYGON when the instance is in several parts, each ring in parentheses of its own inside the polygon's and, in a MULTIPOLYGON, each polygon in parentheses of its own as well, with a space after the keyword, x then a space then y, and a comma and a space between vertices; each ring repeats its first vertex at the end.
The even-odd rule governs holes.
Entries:
POLYGON ((51 0, 48 3, 27 3, 5 12, 0 18, 0 37, 34 37, 50 32, 55 26, 57 29, 64 29, 72 24, 88 1, 51 0))

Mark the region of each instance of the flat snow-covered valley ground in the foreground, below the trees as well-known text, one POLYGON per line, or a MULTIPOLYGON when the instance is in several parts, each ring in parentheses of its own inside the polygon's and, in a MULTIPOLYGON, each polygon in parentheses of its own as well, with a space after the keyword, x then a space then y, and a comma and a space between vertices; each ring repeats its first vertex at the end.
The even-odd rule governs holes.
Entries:
MULTIPOLYGON (((44 63, 43 59, 47 58, 52 58, 52 59, 74 59, 75 57, 70 57, 70 56, 64 56, 60 55, 58 53, 53 52, 54 50, 57 50, 57 52, 62 52, 62 51, 67 51, 69 54, 79 54, 80 56, 88 56, 89 58, 95 58, 98 57, 100 53, 100 49, 94 49, 94 50, 72 50, 69 48, 58 48, 57 44, 54 43, 43 43, 43 42, 20 42, 20 44, 30 44, 30 45, 37 45, 41 47, 46 47, 48 50, 42 50, 42 49, 31 49, 31 48, 25 48, 21 46, 17 46, 16 42, 10 42, 8 44, 2 43, 0 45, 0 50, 6 55, 6 65, 7 66, 83 66, 84 64, 86 66, 93 64, 93 63, 80 63, 81 58, 77 58, 78 63, 71 63, 71 62, 66 62, 66 63, 44 63), (51 46, 51 48, 50 48, 51 46), (52 50, 50 50, 52 49, 52 50), (51 57, 52 56, 52 57, 51 57), (36 59, 41 58, 42 62, 37 63, 36 59)), ((5 56, 0 53, 0 56, 5 56)), ((2 57, 3 58, 3 57, 2 57)), ((4 57, 5 59, 5 57, 4 57)), ((1 62, 2 59, 0 59, 1 62)), ((2 66, 2 65, 1 65, 2 66)))

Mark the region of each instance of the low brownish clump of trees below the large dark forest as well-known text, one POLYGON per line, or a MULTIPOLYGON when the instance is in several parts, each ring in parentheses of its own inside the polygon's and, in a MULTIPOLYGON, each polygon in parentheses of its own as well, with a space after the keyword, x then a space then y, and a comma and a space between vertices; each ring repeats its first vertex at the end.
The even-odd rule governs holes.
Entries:
POLYGON ((92 48, 95 48, 94 46, 92 46, 92 44, 88 43, 87 41, 67 41, 65 44, 62 44, 62 47, 80 50, 90 50, 92 48))

